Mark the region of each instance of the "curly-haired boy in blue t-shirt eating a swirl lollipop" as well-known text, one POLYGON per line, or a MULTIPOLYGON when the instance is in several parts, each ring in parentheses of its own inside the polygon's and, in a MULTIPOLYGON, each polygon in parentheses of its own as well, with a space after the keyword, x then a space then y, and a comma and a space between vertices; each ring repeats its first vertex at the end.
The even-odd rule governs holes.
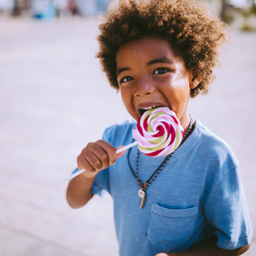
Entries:
POLYGON ((241 255, 252 237, 239 163, 227 144, 187 110, 213 81, 225 25, 194 1, 120 1, 100 25, 98 57, 110 85, 136 120, 150 108, 175 112, 185 139, 172 156, 150 157, 132 140, 136 123, 106 129, 77 163, 67 200, 77 208, 105 189, 114 200, 119 254, 241 255), (122 156, 122 157, 121 157, 122 156), (158 175, 154 175, 160 170, 158 175), (145 185, 146 204, 137 191, 145 185))

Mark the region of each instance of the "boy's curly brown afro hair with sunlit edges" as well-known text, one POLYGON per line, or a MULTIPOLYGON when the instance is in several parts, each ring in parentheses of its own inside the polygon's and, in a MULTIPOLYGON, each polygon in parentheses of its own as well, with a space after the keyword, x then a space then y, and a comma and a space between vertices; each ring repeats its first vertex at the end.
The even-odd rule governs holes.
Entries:
POLYGON ((227 28, 217 15, 193 0, 119 0, 110 5, 100 24, 100 58, 110 85, 119 90, 116 54, 130 41, 147 35, 166 40, 185 66, 201 77, 191 89, 191 97, 207 93, 213 81, 213 67, 218 62, 219 46, 225 42, 227 28))

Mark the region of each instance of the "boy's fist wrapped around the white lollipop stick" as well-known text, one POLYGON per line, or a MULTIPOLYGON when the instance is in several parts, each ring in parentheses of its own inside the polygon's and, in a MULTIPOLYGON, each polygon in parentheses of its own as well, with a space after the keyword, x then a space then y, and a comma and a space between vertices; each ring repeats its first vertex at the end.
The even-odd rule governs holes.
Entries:
POLYGON ((104 140, 90 142, 82 149, 81 154, 77 157, 78 168, 80 170, 86 170, 82 175, 91 178, 98 175, 101 170, 114 165, 117 158, 126 153, 125 150, 117 154, 116 149, 120 147, 115 148, 104 140))

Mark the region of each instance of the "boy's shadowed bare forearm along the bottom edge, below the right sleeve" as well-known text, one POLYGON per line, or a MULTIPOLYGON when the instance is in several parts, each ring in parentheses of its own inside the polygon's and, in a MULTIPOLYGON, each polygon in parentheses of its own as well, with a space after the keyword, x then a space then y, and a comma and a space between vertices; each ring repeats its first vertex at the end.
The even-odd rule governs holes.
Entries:
POLYGON ((156 256, 239 256, 250 248, 250 244, 247 246, 242 246, 234 250, 224 250, 217 246, 217 237, 204 242, 203 244, 196 245, 191 249, 180 252, 173 253, 157 253, 156 256))

